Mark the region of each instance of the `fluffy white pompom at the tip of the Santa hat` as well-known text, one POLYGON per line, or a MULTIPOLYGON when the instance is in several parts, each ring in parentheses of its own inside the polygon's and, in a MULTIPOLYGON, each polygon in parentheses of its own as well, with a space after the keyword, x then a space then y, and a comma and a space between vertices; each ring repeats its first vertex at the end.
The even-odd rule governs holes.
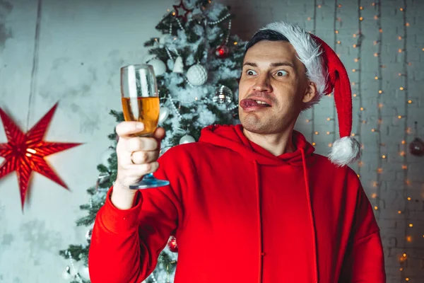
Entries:
POLYGON ((353 137, 342 137, 334 141, 329 159, 337 166, 346 166, 358 160, 362 154, 359 142, 353 137))

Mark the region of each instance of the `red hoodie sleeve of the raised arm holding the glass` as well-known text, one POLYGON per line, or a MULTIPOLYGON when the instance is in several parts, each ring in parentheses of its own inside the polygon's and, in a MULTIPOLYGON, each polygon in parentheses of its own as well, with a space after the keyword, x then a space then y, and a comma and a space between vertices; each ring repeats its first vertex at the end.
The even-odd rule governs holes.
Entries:
MULTIPOLYGON (((171 164, 155 173, 171 186, 176 175, 171 164)), ((95 218, 88 253, 92 283, 139 283, 153 272, 182 215, 179 194, 171 186, 139 190, 133 207, 125 210, 114 207, 110 189, 95 218)))

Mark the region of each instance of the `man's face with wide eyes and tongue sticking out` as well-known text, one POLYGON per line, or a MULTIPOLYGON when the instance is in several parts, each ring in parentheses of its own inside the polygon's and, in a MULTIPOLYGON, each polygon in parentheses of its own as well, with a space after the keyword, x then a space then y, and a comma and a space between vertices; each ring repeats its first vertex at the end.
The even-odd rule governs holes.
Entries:
POLYGON ((257 134, 276 134, 294 125, 309 100, 305 71, 289 42, 263 40, 250 47, 239 83, 243 127, 257 134))

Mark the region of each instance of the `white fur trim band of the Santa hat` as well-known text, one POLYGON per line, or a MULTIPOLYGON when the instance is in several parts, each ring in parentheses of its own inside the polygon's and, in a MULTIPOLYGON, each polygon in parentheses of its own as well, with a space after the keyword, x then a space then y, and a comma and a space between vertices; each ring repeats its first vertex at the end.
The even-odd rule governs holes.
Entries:
POLYGON ((327 94, 324 93, 326 90, 327 70, 322 57, 319 56, 322 52, 319 50, 317 42, 298 25, 282 21, 269 23, 261 30, 274 30, 287 37, 298 53, 298 59, 305 65, 307 77, 317 86, 317 95, 309 103, 306 103, 303 110, 317 104, 322 96, 327 94))

